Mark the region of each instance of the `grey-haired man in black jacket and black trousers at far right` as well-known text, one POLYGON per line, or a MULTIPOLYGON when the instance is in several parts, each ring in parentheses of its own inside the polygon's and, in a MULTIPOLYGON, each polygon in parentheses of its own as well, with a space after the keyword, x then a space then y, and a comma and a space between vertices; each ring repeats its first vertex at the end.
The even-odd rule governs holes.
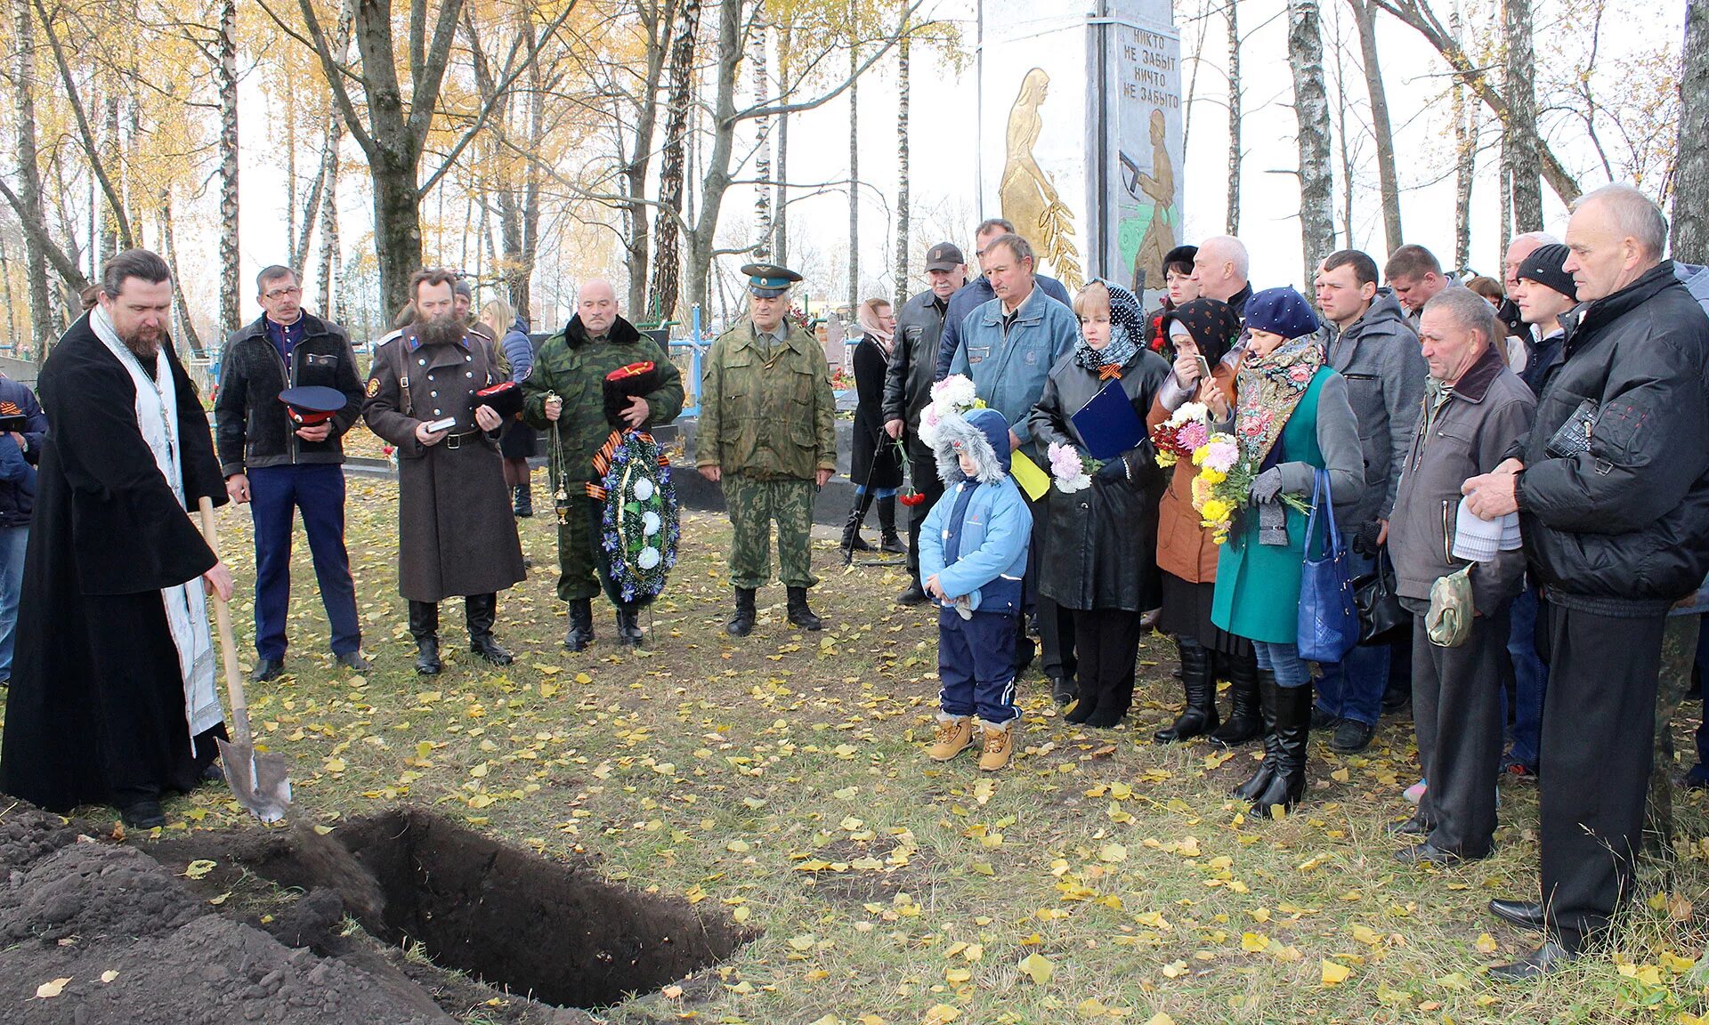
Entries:
POLYGON ((1548 601, 1542 900, 1490 902, 1543 943, 1497 977, 1559 969, 1630 895, 1663 625, 1709 569, 1709 318, 1663 260, 1666 239, 1630 186, 1577 202, 1565 270, 1583 304, 1562 318, 1536 424, 1463 489, 1480 518, 1519 512, 1548 601))

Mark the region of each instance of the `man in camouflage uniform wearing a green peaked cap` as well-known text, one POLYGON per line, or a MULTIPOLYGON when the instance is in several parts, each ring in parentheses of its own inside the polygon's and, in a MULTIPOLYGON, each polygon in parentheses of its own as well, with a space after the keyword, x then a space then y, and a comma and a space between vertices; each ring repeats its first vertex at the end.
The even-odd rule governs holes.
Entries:
POLYGON ((771 263, 749 263, 749 318, 713 342, 701 386, 696 466, 723 483, 735 536, 730 583, 737 610, 725 630, 754 630, 754 591, 771 579, 771 521, 778 521, 778 562, 790 593, 790 622, 817 630, 807 589, 817 581, 808 557, 813 495, 836 473, 831 425, 834 400, 824 348, 784 316, 790 284, 802 275, 771 263))

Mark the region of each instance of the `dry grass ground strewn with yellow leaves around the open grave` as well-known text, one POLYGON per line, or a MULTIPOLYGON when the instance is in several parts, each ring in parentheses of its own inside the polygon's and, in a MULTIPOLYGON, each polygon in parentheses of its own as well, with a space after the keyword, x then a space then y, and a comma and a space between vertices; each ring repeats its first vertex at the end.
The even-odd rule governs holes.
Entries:
MULTIPOLYGON (((1410 723, 1357 757, 1313 748, 1307 803, 1254 820, 1225 791, 1253 750, 1157 747, 1179 694, 1160 639, 1142 651, 1135 712, 1114 731, 1065 724, 1036 675, 1022 753, 983 776, 972 752, 923 757, 935 627, 890 603, 890 569, 844 574, 817 542, 822 634, 761 594, 759 629, 721 630, 728 524, 690 516, 651 646, 559 641, 547 516, 523 521, 531 579, 499 605, 516 665, 472 663, 461 613, 448 665, 410 670, 395 591, 396 490, 350 480, 349 540, 374 671, 332 673, 306 543, 297 538, 291 676, 255 688, 272 750, 294 764, 299 815, 342 818, 419 801, 549 858, 591 858, 632 887, 718 909, 757 938, 697 984, 608 1008, 612 1022, 1695 1022, 1690 958, 1709 938, 1709 839, 1680 803, 1682 858, 1649 864, 1613 952, 1540 984, 1485 967, 1530 945, 1490 897, 1535 893, 1535 786, 1502 782, 1497 854, 1403 868, 1383 827, 1410 813, 1410 723)), ((239 586, 248 516, 222 512, 239 586)), ((251 605, 239 601, 244 637, 251 605)), ((1682 745, 1690 750, 1688 743, 1682 745)), ((171 830, 258 829, 220 793, 167 806, 171 830)))

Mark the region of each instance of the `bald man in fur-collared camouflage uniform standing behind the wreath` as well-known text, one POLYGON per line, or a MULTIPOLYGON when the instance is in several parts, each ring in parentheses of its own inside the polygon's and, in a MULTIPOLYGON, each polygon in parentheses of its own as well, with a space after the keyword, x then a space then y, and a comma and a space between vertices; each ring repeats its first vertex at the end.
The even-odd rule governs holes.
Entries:
MULTIPOLYGON (((605 504, 588 495, 596 482, 593 456, 612 434, 605 419, 605 376, 651 360, 663 374, 656 391, 636 396, 622 412, 639 430, 670 424, 682 412, 682 374, 660 347, 617 314, 617 290, 607 280, 581 285, 576 316, 540 343, 533 372, 523 381, 523 420, 547 430, 552 494, 569 497, 569 514, 557 524, 557 596, 569 603, 564 647, 593 644, 593 596, 610 579, 605 564, 605 504)), ((617 601, 617 642, 639 647, 644 634, 636 605, 617 601)))

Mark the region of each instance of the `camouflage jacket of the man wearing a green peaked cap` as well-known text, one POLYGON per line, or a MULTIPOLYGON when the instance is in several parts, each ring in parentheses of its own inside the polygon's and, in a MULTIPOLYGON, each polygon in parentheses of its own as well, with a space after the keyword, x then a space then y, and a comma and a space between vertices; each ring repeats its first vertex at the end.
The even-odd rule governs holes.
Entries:
POLYGON ((824 348, 802 328, 767 359, 743 319, 713 342, 701 386, 696 465, 759 478, 836 470, 836 400, 824 348))

